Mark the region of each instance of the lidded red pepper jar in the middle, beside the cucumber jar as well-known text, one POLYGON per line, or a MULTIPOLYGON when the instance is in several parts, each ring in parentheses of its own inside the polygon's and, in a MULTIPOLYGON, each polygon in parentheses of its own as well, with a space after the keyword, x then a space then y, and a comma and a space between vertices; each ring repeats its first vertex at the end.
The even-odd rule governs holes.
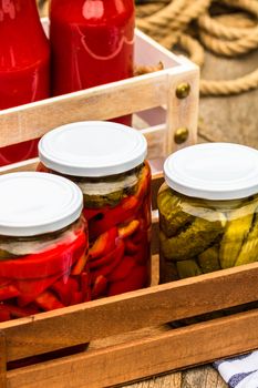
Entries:
POLYGON ((92 297, 149 285, 151 171, 141 132, 81 122, 45 134, 40 171, 64 175, 83 192, 92 297))

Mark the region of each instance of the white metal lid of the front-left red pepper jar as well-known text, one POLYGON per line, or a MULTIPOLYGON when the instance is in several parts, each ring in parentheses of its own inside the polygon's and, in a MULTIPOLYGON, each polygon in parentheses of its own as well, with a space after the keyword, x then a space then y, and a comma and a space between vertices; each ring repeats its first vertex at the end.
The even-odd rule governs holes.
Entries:
POLYGON ((35 172, 0 176, 0 235, 62 229, 80 217, 82 206, 81 190, 64 177, 35 172))

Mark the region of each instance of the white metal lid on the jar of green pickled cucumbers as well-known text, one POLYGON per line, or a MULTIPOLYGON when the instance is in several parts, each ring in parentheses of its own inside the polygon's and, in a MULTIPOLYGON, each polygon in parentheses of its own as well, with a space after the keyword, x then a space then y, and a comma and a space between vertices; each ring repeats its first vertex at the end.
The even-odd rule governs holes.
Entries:
POLYGON ((258 151, 231 143, 193 145, 164 164, 175 191, 205 200, 237 200, 258 193, 258 151))

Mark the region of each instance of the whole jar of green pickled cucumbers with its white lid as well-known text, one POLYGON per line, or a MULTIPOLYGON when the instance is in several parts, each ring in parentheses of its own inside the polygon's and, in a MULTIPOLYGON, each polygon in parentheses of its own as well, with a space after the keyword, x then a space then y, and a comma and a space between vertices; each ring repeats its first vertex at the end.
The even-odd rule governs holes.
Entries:
POLYGON ((157 196, 161 283, 258 261, 258 151, 210 143, 164 165, 157 196))

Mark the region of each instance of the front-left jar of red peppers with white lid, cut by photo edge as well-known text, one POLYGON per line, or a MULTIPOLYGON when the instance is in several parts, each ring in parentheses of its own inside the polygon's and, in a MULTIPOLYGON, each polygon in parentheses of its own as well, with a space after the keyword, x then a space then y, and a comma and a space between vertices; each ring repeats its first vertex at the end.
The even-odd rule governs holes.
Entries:
POLYGON ((41 173, 0 177, 0 321, 91 297, 79 187, 41 173))

